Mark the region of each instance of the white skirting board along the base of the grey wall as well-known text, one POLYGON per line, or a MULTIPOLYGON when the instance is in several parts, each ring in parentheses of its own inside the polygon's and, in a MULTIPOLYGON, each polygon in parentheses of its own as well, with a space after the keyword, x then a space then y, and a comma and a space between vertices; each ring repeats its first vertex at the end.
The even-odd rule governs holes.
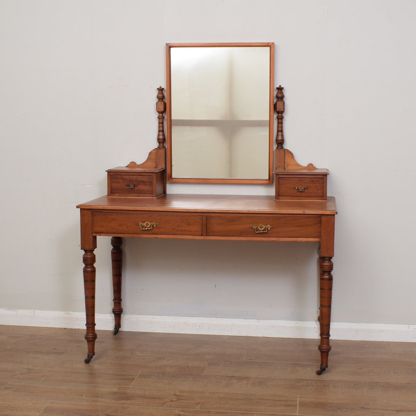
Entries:
MULTIPOLYGON (((95 322, 97 329, 113 329, 113 314, 96 314, 95 322)), ((0 309, 0 324, 85 328, 85 314, 83 312, 0 309)), ((158 315, 123 314, 121 330, 174 332, 178 334, 245 335, 251 337, 319 337, 317 322, 158 315)), ((416 325, 331 322, 331 338, 416 342, 416 325)))

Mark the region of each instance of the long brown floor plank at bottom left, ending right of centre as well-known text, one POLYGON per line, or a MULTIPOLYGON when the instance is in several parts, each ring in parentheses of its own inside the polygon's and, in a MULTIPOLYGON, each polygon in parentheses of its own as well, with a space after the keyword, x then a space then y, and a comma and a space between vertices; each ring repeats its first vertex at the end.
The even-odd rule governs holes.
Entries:
POLYGON ((119 406, 222 411, 294 413, 297 396, 181 389, 152 389, 77 383, 12 380, 1 391, 6 399, 51 399, 119 406))

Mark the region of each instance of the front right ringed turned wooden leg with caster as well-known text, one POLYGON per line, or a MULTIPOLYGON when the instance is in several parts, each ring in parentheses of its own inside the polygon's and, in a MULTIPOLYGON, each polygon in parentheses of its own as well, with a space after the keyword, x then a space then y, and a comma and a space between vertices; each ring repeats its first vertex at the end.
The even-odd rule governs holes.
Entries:
POLYGON ((321 352, 321 366, 316 374, 321 375, 328 367, 328 354, 331 351, 329 345, 329 329, 331 324, 331 300, 332 300, 332 257, 321 257, 319 262, 319 336, 321 342, 319 351, 321 352))

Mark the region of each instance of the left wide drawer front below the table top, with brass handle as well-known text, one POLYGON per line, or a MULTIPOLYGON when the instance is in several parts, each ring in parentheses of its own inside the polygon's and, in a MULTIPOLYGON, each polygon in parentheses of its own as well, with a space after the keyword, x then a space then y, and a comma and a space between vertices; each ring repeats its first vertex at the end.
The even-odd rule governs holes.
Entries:
POLYGON ((201 215, 93 212, 96 234, 202 235, 201 215))

